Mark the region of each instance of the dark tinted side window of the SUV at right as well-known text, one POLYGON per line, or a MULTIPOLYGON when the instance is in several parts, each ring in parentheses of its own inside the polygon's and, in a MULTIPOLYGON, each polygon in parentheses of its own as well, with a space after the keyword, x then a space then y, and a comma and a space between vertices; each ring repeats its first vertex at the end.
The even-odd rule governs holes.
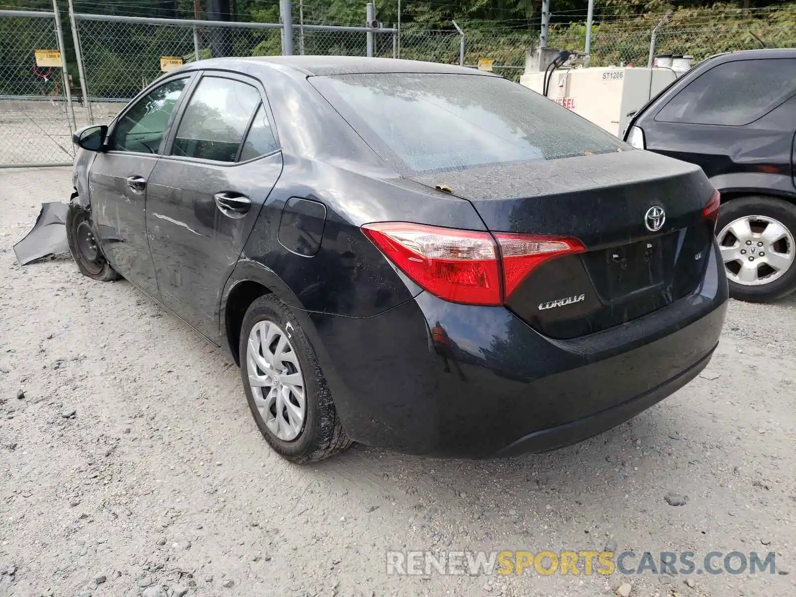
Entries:
POLYGON ((796 93, 796 58, 734 60, 702 73, 655 119, 665 123, 743 126, 796 93))

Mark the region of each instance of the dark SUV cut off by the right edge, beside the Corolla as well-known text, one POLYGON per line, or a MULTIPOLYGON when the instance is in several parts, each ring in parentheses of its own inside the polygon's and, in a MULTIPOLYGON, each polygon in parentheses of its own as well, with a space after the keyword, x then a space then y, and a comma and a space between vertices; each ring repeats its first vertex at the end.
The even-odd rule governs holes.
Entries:
POLYGON ((625 140, 693 162, 721 193, 717 237, 730 295, 796 290, 796 49, 720 54, 646 104, 625 140))

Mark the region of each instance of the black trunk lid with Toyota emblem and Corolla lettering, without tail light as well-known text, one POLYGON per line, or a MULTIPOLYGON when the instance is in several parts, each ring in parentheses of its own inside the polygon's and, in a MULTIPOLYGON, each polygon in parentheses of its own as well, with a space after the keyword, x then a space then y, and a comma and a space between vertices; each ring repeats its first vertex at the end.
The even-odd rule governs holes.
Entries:
POLYGON ((543 263, 506 298, 553 338, 641 317, 693 292, 704 275, 713 189, 685 162, 630 150, 412 178, 470 201, 490 231, 583 242, 586 252, 543 263))

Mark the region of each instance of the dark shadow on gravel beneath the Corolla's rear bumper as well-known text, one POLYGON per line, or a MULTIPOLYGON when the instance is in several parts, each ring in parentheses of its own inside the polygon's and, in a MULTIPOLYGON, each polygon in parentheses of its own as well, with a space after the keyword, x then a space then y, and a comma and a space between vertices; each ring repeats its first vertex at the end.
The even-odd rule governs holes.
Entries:
POLYGON ((327 480, 337 476, 348 487, 398 485, 438 503, 458 497, 462 505, 530 505, 554 495, 562 500, 557 509, 576 509, 583 500, 607 507, 624 496, 623 480, 670 468, 670 458, 689 445, 685 437, 698 436, 700 430, 679 420, 679 431, 666 431, 673 423, 668 417, 656 406, 574 446, 513 458, 428 458, 354 444, 307 472, 317 470, 327 480))

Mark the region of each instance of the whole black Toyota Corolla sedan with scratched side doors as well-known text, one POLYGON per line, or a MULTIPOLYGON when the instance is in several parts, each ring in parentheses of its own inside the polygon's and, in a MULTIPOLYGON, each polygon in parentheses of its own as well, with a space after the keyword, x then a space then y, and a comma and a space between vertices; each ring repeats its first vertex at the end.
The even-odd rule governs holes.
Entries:
POLYGON ((75 142, 80 271, 227 348, 294 462, 552 450, 681 388, 719 339, 702 170, 490 73, 205 60, 75 142))

